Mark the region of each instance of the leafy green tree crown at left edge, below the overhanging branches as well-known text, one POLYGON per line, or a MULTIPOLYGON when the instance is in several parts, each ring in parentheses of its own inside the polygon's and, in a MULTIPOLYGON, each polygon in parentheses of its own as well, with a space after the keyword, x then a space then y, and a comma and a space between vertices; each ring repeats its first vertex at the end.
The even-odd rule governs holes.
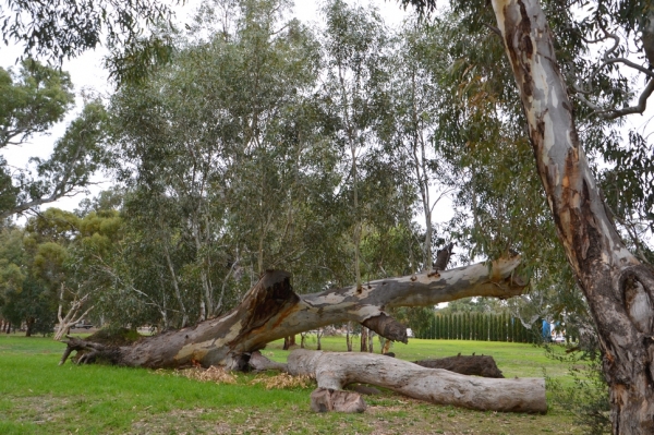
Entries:
MULTIPOLYGON (((65 72, 34 60, 24 61, 19 73, 0 69, 0 149, 27 146, 35 134, 61 121, 73 101, 65 72)), ((55 143, 49 158, 32 158, 31 169, 11 167, 0 158, 0 219, 88 186, 90 176, 106 159, 105 119, 101 102, 89 100, 55 143)))

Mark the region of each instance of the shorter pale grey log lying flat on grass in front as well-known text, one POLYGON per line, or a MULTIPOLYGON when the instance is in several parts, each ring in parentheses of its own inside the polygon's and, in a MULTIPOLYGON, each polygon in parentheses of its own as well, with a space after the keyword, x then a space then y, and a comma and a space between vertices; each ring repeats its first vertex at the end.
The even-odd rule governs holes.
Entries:
MULTIPOLYGON (((542 378, 494 379, 465 376, 443 368, 425 368, 384 355, 306 349, 291 352, 288 370, 294 376, 315 376, 318 388, 327 391, 342 390, 352 383, 365 383, 438 404, 482 411, 547 411, 545 379, 542 378)), ((315 396, 314 400, 329 399, 325 391, 315 396)), ((312 408, 322 407, 314 404, 312 408)))

